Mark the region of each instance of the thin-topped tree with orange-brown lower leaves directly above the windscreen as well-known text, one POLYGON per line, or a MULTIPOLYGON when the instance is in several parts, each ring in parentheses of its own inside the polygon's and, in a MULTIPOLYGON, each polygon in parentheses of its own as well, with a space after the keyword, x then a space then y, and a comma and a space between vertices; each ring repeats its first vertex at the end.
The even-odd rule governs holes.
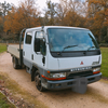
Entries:
POLYGON ((66 2, 63 19, 64 25, 84 27, 84 16, 80 11, 82 10, 83 3, 76 0, 64 0, 63 2, 66 2))

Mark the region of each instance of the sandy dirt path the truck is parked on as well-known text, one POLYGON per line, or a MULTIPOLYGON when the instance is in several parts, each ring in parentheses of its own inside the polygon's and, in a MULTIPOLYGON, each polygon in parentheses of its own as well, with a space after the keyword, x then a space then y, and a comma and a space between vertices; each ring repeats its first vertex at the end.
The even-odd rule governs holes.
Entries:
POLYGON ((11 55, 0 54, 0 72, 8 73, 23 89, 50 108, 108 108, 108 84, 102 81, 87 85, 85 94, 71 90, 39 92, 25 69, 13 69, 11 55))

